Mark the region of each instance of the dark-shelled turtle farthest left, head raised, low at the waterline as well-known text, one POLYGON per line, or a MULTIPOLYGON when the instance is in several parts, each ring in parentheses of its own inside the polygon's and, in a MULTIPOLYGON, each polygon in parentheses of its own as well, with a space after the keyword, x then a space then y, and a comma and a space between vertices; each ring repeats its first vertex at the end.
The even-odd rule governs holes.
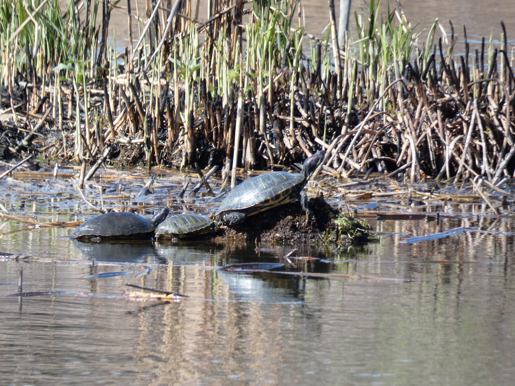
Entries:
POLYGON ((113 212, 84 221, 73 232, 76 238, 150 238, 156 226, 164 221, 170 209, 164 207, 157 215, 148 220, 134 213, 113 212))

